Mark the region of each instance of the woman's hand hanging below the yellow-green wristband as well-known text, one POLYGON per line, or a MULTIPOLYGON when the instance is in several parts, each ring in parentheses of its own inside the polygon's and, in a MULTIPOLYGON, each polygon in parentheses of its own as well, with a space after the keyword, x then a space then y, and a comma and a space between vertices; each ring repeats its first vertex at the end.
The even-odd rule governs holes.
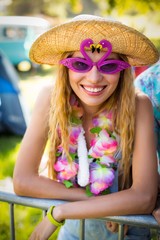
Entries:
POLYGON ((55 231, 57 227, 54 226, 47 217, 37 225, 31 234, 29 240, 47 240, 55 231))

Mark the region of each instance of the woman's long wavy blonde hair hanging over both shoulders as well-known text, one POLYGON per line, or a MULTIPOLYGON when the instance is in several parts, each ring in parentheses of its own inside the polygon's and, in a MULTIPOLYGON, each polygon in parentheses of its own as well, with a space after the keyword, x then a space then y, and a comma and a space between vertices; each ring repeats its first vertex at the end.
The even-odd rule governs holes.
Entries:
MULTIPOLYGON (((69 54, 62 56, 66 58, 69 54)), ((57 146, 62 144, 67 158, 70 160, 68 140, 68 127, 72 109, 70 106, 70 96, 72 89, 69 83, 68 69, 63 65, 59 66, 57 79, 51 96, 51 107, 49 113, 49 159, 48 169, 49 177, 56 179, 53 165, 56 161, 57 146), (58 128, 61 130, 61 139, 58 128)), ((131 158, 134 147, 135 131, 135 88, 133 85, 133 76, 130 69, 125 69, 120 74, 118 86, 112 96, 104 102, 102 108, 112 109, 113 127, 120 136, 120 148, 122 159, 120 161, 120 170, 123 171, 121 189, 127 185, 131 158)))

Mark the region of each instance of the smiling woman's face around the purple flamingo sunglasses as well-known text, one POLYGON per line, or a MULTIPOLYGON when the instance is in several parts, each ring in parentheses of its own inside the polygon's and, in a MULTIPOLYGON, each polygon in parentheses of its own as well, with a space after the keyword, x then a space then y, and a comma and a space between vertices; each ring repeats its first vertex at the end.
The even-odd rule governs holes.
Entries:
MULTIPOLYGON (((92 53, 88 51, 87 54, 93 62, 98 62, 104 55, 104 52, 98 53, 96 51, 92 53)), ((75 52, 72 57, 84 59, 81 52, 75 52)), ((118 54, 111 53, 107 60, 109 59, 119 59, 118 54)), ((84 73, 75 72, 71 69, 68 71, 73 91, 80 99, 84 108, 90 111, 98 111, 100 109, 104 101, 115 91, 120 78, 120 72, 104 74, 99 72, 96 66, 93 66, 90 71, 84 73)))

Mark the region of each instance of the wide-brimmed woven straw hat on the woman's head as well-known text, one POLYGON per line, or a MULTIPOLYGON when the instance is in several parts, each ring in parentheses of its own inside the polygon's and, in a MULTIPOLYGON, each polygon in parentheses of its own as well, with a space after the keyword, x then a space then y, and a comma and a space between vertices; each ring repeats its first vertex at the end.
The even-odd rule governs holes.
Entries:
POLYGON ((30 49, 30 59, 39 64, 58 64, 64 52, 79 51, 86 38, 94 43, 110 41, 112 51, 126 55, 132 66, 150 65, 159 58, 153 43, 137 30, 106 18, 79 15, 39 36, 30 49))

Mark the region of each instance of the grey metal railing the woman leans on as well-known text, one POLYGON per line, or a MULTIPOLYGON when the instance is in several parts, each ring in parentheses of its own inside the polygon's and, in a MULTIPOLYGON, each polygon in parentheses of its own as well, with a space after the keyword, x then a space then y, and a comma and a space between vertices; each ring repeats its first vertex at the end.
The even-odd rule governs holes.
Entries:
MULTIPOLYGON (((8 193, 0 191, 0 201, 7 202, 10 205, 10 233, 11 240, 15 240, 15 225, 14 225, 14 204, 39 208, 46 213, 46 210, 54 205, 59 205, 65 203, 66 201, 52 200, 52 199, 42 199, 42 198, 31 198, 31 197, 20 197, 14 193, 8 193)), ((117 222, 119 224, 118 229, 118 240, 123 240, 123 230, 124 224, 138 226, 138 227, 148 227, 150 229, 160 230, 160 226, 152 215, 129 215, 129 216, 114 216, 98 218, 104 221, 117 222)), ((80 220, 80 233, 79 239, 85 240, 85 219, 80 220)), ((87 240, 87 239, 86 239, 87 240)))

